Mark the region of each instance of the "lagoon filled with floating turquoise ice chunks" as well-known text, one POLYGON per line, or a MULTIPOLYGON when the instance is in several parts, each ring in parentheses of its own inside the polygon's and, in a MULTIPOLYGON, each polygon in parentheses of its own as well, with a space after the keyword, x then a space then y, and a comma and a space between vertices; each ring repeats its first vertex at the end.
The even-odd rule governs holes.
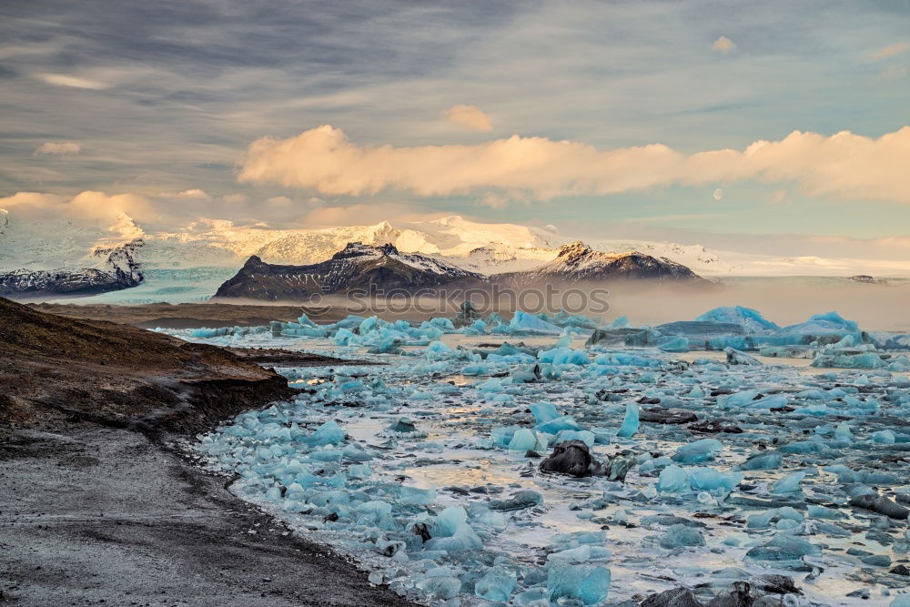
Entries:
MULTIPOLYGON (((776 601, 767 604, 854 604, 866 592, 887 604, 910 584, 901 368, 750 364, 762 362, 757 352, 673 353, 656 342, 585 348, 591 329, 571 321, 524 319, 516 336, 442 320, 328 330, 301 320, 177 335, 389 364, 279 369, 302 388, 296 399, 238 416, 197 449, 207 468, 240 475, 241 498, 341 542, 398 592, 452 604, 637 604, 684 587, 707 603, 748 582, 776 601), (389 341, 392 331, 404 337, 389 341), (524 347, 477 347, 502 339, 524 347), (674 413, 696 420, 672 423, 674 413), (631 452, 637 465, 622 483, 545 474, 526 457, 568 439, 598 460, 631 452), (798 592, 761 590, 769 574, 798 592)), ((858 345, 836 337, 819 351, 858 345)))

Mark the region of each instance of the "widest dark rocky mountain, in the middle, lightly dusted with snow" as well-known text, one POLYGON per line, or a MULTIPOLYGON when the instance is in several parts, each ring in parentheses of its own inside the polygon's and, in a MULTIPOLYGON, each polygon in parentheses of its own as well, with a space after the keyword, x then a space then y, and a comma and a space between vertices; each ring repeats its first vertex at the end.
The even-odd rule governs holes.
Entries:
POLYGON ((480 285, 480 274, 423 255, 403 254, 394 245, 349 243, 332 258, 308 266, 268 264, 248 258, 237 275, 225 281, 214 298, 306 300, 315 293, 345 293, 354 289, 385 293, 415 293, 441 287, 480 285))

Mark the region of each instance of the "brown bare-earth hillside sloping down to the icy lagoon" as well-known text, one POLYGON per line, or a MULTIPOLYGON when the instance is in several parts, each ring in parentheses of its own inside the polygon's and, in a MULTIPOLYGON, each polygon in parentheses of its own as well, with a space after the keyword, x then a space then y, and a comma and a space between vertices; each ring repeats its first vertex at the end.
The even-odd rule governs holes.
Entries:
POLYGON ((271 369, 214 346, 0 298, 0 422, 197 430, 289 395, 271 369))

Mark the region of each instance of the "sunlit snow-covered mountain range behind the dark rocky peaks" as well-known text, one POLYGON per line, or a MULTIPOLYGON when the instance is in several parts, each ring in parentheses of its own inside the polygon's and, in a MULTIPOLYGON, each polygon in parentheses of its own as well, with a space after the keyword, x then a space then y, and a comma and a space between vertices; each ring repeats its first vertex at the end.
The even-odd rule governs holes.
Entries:
MULTIPOLYGON (((372 226, 279 229, 264 224, 237 226, 200 219, 179 231, 144 231, 126 216, 111 226, 60 218, 26 221, 0 209, 0 270, 85 268, 99 246, 142 238, 138 261, 147 269, 239 268, 251 255, 272 264, 305 265, 331 258, 349 242, 392 244, 402 253, 440 258, 472 272, 496 274, 538 268, 557 249, 578 238, 542 228, 470 221, 459 216, 432 221, 388 221, 372 226)), ((639 251, 668 258, 701 276, 905 276, 901 261, 836 258, 781 258, 668 242, 584 238, 608 253, 639 251)))

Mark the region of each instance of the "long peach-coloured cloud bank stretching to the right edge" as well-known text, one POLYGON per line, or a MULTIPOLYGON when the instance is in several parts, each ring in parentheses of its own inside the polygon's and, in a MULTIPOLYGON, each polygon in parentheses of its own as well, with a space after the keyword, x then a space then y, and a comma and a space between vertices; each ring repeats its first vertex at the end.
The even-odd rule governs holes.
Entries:
POLYGON ((479 193, 510 199, 608 195, 674 184, 795 183, 808 196, 910 203, 910 126, 877 139, 794 131, 743 150, 686 155, 652 144, 599 150, 513 135, 477 145, 366 147, 324 125, 248 147, 241 182, 278 183, 329 196, 405 191, 419 197, 479 193))

